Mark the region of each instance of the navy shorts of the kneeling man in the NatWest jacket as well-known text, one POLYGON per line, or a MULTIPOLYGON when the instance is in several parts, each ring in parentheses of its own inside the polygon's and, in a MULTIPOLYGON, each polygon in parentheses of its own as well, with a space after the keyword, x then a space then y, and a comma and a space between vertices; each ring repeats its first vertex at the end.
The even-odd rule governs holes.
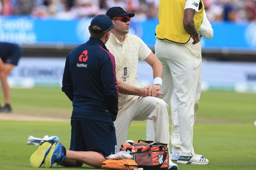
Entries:
POLYGON ((71 151, 94 151, 104 157, 116 153, 114 123, 101 121, 71 121, 71 151))

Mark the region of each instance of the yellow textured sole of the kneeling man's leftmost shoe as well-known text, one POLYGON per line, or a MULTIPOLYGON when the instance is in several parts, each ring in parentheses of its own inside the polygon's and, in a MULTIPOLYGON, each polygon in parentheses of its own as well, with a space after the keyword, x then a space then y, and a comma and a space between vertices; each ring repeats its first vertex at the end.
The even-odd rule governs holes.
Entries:
POLYGON ((35 168, 40 168, 46 155, 51 149, 52 144, 49 142, 44 142, 30 157, 30 165, 35 168))

